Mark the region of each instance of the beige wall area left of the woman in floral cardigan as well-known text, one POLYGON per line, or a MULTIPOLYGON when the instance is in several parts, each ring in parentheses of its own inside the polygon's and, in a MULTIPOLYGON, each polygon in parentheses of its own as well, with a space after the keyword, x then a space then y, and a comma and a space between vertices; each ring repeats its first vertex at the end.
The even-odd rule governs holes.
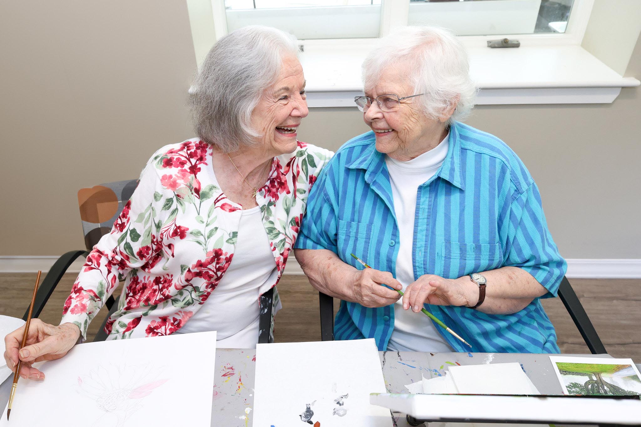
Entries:
POLYGON ((0 255, 83 248, 78 188, 189 138, 184 1, 0 2, 0 255))

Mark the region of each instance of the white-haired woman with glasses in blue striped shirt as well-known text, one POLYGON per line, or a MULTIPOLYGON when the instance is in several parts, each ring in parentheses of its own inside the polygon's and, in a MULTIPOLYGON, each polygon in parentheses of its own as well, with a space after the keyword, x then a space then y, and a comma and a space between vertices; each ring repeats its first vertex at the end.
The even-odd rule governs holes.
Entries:
POLYGON ((372 131, 320 173, 296 243, 312 285, 342 300, 335 339, 558 353, 540 298, 556 295, 566 263, 519 157, 460 122, 476 93, 460 42, 444 29, 401 29, 369 54, 363 81, 355 101, 372 131))

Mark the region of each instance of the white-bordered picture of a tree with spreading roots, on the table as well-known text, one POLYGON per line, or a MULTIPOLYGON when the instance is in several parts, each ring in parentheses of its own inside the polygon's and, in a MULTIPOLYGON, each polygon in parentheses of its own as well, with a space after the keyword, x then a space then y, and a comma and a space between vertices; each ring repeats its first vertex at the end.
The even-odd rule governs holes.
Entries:
POLYGON ((632 359, 550 356, 563 394, 641 394, 641 375, 632 359))

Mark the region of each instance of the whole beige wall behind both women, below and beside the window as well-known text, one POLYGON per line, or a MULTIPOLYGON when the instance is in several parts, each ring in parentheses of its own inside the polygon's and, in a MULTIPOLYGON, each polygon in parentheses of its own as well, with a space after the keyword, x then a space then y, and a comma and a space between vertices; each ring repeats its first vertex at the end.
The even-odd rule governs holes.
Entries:
MULTIPOLYGON (((192 135, 187 6, 2 2, 0 58, 0 255, 82 248, 77 189, 137 177, 155 149, 192 135)), ((626 76, 641 77, 640 43, 626 76)), ((631 88, 613 104, 481 106, 468 123, 526 163, 565 257, 641 258, 640 118, 631 88)), ((337 149, 364 131, 356 109, 315 108, 300 138, 337 149)))

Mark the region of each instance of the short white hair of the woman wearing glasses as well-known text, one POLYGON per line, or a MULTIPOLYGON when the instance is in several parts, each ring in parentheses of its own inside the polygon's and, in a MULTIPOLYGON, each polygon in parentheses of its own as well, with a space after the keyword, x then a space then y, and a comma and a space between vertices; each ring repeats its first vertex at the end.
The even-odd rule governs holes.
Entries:
POLYGON ((414 93, 396 95, 425 93, 414 102, 419 102, 424 113, 435 120, 456 104, 447 124, 470 115, 477 89, 470 78, 467 52, 451 31, 436 26, 408 26, 381 38, 363 62, 365 90, 378 83, 385 68, 399 62, 410 63, 414 93))

